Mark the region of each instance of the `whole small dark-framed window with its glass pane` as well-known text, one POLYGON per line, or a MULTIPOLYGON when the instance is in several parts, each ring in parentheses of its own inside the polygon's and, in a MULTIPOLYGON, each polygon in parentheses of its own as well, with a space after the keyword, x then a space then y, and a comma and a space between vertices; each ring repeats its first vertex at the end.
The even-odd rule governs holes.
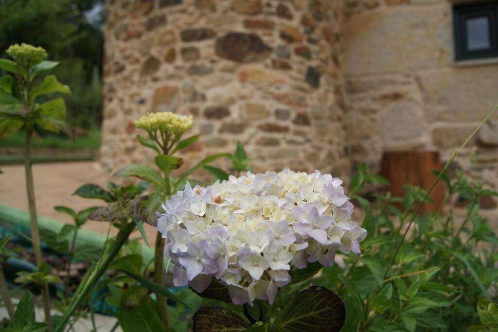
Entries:
POLYGON ((498 1, 453 8, 455 58, 498 57, 498 1))

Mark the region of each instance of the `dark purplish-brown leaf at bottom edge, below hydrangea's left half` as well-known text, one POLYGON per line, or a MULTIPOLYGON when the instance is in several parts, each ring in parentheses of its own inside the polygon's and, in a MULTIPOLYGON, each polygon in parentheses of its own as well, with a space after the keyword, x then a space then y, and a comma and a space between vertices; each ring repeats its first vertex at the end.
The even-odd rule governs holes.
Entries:
POLYGON ((245 317, 226 308, 202 307, 195 312, 192 321, 194 332, 235 332, 249 328, 245 317))

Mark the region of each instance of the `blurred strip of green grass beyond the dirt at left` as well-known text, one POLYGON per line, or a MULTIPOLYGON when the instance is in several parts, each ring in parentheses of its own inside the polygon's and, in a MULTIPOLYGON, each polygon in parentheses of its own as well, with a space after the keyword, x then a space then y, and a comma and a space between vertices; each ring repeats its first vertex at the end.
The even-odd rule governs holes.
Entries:
MULTIPOLYGON (((0 147, 24 147, 24 131, 19 130, 15 133, 0 139, 0 147)), ((58 149, 91 149, 98 150, 100 148, 101 132, 97 129, 88 131, 87 136, 78 136, 73 142, 68 137, 62 137, 54 134, 47 134, 41 137, 33 137, 32 146, 36 148, 58 148, 58 149)))

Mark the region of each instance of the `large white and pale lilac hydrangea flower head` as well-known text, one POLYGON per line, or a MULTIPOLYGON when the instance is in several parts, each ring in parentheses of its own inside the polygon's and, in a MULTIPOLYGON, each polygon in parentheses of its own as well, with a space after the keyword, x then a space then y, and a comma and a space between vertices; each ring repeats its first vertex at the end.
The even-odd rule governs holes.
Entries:
POLYGON ((273 303, 289 271, 320 262, 332 266, 337 250, 360 253, 367 230, 352 221, 353 204, 330 174, 247 173, 185 189, 159 214, 173 282, 203 292, 212 278, 228 286, 232 302, 273 303))

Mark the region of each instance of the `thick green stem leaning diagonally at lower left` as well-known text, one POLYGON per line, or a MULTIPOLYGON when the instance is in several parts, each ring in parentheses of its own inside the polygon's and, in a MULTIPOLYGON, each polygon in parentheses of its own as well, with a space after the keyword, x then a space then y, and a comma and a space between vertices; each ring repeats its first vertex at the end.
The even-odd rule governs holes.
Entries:
POLYGON ((55 331, 63 331, 64 326, 67 324, 74 311, 84 302, 87 295, 93 289, 95 283, 104 274, 104 272, 106 272, 107 267, 116 257, 121 247, 128 239, 129 234, 131 234, 131 232, 133 231, 134 227, 134 222, 128 222, 120 229, 118 235, 116 235, 116 242, 114 242, 112 248, 109 250, 109 253, 104 253, 103 257, 100 259, 99 263, 97 263, 96 268, 92 271, 88 279, 78 286, 78 289, 76 290, 75 295, 72 297, 67 310, 59 320, 55 331))

